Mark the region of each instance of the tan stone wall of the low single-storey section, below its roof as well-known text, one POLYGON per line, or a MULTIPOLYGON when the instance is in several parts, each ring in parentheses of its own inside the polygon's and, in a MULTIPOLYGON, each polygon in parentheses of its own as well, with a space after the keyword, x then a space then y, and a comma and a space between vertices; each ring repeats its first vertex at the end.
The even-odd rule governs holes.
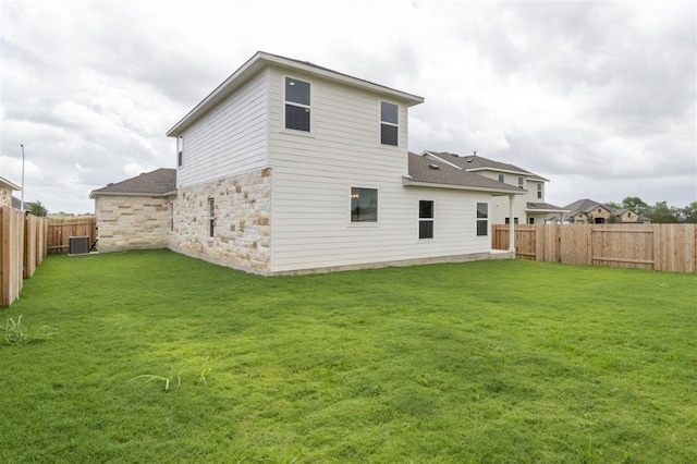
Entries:
POLYGON ((105 253, 167 248, 170 239, 169 204, 167 197, 98 196, 95 199, 97 249, 105 253))

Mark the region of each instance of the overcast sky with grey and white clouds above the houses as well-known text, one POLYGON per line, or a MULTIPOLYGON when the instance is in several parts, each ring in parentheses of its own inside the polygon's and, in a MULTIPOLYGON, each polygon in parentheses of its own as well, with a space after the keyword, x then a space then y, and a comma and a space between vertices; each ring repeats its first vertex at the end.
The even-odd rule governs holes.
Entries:
POLYGON ((50 212, 173 168, 164 133, 257 50, 416 94, 409 149, 579 198, 697 200, 695 2, 0 0, 0 175, 50 212))

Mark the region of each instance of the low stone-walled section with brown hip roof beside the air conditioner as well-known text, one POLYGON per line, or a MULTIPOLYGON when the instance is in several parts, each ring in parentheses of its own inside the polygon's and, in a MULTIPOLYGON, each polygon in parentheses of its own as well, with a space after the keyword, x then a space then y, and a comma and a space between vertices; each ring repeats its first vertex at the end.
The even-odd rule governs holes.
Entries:
POLYGON ((175 169, 157 169, 93 191, 98 249, 168 247, 175 180, 175 169))

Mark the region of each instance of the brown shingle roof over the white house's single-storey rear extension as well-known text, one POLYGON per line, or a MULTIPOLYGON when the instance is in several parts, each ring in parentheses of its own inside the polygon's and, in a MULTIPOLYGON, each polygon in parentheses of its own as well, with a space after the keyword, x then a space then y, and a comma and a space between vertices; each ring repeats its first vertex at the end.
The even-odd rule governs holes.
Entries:
POLYGON ((485 178, 484 175, 467 172, 463 169, 454 168, 445 162, 433 160, 416 154, 408 155, 409 179, 405 179, 405 184, 421 183, 436 184, 444 187, 465 188, 482 192, 499 192, 511 194, 523 194, 524 190, 503 182, 485 178))

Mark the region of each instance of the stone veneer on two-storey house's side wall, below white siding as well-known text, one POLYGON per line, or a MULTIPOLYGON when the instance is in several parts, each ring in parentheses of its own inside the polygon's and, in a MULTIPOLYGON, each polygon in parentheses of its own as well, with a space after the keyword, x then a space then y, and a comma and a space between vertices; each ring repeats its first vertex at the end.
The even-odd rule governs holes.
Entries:
POLYGON ((232 268, 269 272, 271 169, 180 188, 170 248, 232 268), (212 237, 209 198, 215 200, 212 237))

